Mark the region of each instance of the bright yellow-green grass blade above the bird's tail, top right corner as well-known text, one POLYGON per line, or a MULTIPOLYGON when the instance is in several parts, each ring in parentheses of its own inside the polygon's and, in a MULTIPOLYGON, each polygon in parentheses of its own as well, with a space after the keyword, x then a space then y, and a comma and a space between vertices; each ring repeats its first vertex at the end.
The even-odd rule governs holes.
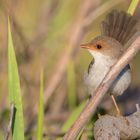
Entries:
POLYGON ((130 15, 133 15, 138 3, 139 3, 139 0, 131 0, 127 13, 129 13, 130 15))

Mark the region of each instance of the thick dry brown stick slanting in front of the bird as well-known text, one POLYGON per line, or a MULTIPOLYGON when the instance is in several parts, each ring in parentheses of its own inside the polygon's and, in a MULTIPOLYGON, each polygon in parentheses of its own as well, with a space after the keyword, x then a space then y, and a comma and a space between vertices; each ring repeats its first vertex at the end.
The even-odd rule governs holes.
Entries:
POLYGON ((133 59, 136 53, 140 49, 140 33, 134 40, 134 42, 130 45, 130 47, 126 50, 126 52, 121 56, 121 58, 117 61, 117 63, 110 69, 107 73, 100 86, 97 88, 96 92, 89 102, 87 103, 84 110, 81 112, 78 119, 69 129, 69 131, 64 136, 64 140, 74 140, 79 134, 80 130, 89 120, 91 115, 95 113, 96 108, 102 101, 104 95, 108 91, 109 87, 117 77, 117 75, 121 72, 121 70, 133 59))

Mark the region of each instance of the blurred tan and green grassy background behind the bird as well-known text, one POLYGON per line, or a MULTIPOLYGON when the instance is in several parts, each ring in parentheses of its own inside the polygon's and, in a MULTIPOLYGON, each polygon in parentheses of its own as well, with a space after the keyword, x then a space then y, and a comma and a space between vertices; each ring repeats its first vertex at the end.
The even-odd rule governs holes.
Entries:
MULTIPOLYGON (((39 79, 40 72, 44 69, 44 100, 47 104, 44 133, 49 133, 44 139, 55 139, 54 132, 59 134, 73 110, 89 96, 83 75, 92 57, 80 49, 80 44, 89 42, 100 34, 100 22, 108 12, 114 8, 127 11, 129 4, 130 0, 0 0, 1 139, 5 135, 9 118, 7 14, 11 19, 19 67, 25 128, 31 126, 30 123, 38 113, 39 79), (48 94, 51 94, 49 100, 48 94)), ((140 5, 134 14, 136 18, 140 18, 139 8, 140 5)), ((138 54, 132 62, 131 87, 123 97, 118 98, 124 114, 133 112, 135 103, 140 102, 139 62, 138 54)), ((109 108, 109 104, 106 103, 105 110, 115 112, 114 106, 109 108)), ((31 132, 28 135, 35 137, 34 128, 29 130, 31 132)), ((84 138, 88 139, 87 135, 84 138)))

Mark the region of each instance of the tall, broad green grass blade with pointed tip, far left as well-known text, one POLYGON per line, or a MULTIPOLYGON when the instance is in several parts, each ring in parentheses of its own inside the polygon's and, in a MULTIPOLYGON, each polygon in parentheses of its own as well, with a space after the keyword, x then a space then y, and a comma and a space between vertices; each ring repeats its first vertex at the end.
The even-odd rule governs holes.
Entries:
POLYGON ((15 119, 12 129, 13 140, 24 140, 24 121, 21 101, 21 88, 9 20, 8 20, 8 80, 9 80, 8 86, 9 86, 10 102, 14 103, 16 108, 15 119))

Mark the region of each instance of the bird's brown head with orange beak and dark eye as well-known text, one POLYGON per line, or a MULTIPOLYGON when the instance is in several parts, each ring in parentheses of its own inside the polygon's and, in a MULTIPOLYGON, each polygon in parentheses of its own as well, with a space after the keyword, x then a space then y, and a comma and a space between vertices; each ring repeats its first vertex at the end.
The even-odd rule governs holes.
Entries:
POLYGON ((95 60, 100 56, 118 59, 123 52, 122 45, 117 40, 107 36, 99 36, 90 43, 82 44, 81 47, 88 49, 95 60))

